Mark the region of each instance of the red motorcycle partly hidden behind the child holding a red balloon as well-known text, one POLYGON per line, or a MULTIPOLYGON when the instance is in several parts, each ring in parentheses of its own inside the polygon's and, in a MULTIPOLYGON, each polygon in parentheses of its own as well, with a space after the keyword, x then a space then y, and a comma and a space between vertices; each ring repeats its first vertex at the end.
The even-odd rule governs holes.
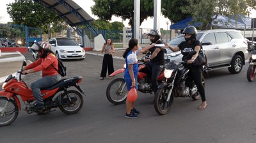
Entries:
MULTIPOLYGON (((144 58, 148 58, 147 55, 144 58)), ((151 80, 150 77, 148 77, 147 73, 143 72, 144 68, 147 68, 145 66, 145 64, 143 63, 143 59, 141 61, 139 61, 139 67, 138 67, 138 91, 140 91, 141 93, 151 93, 152 94, 152 85, 151 85, 151 80)), ((125 68, 126 65, 124 64, 123 68, 120 68, 118 70, 116 70, 115 72, 113 72, 111 75, 109 75, 109 77, 113 77, 115 75, 118 75, 120 73, 124 73, 125 72, 125 68)), ((162 72, 160 73, 157 81, 159 82, 159 84, 161 84, 162 80, 164 79, 164 70, 162 70, 162 72)), ((108 87, 107 87, 107 98, 109 100, 109 102, 113 103, 113 104, 121 104, 124 103, 126 101, 127 98, 127 87, 126 87, 126 82, 124 80, 124 78, 118 78, 118 79, 114 79, 112 80, 108 87)))

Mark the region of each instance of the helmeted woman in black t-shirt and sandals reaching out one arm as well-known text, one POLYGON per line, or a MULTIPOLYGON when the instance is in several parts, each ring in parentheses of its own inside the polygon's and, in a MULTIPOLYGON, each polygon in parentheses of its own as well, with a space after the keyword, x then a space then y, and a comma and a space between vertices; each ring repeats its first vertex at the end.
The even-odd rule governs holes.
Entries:
POLYGON ((189 52, 193 50, 196 51, 196 54, 188 60, 188 64, 190 65, 188 66, 189 76, 186 80, 186 86, 192 87, 192 81, 194 80, 196 87, 198 88, 198 91, 202 97, 202 103, 200 107, 198 107, 198 109, 205 109, 207 103, 205 99, 204 86, 202 84, 202 67, 192 64, 197 58, 199 50, 202 49, 202 45, 200 41, 196 40, 197 31, 194 26, 186 27, 182 34, 185 34, 186 41, 182 41, 177 47, 172 47, 168 43, 164 43, 164 45, 166 45, 166 47, 169 47, 173 52, 181 50, 181 53, 183 55, 182 60, 184 60, 184 57, 188 56, 189 52))

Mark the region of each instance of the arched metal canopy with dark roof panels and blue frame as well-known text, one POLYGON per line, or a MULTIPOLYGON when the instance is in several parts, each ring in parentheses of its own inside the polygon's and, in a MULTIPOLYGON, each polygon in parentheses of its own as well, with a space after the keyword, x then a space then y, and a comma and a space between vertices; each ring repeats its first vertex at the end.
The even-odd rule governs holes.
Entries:
MULTIPOLYGON (((54 11, 59 15, 67 24, 71 27, 85 25, 92 31, 94 35, 97 35, 97 31, 89 24, 94 19, 86 13, 78 4, 72 0, 33 0, 36 3, 41 4, 45 8, 54 11)), ((77 30, 77 28, 74 28, 77 30)), ((81 35, 81 30, 77 31, 81 35)))

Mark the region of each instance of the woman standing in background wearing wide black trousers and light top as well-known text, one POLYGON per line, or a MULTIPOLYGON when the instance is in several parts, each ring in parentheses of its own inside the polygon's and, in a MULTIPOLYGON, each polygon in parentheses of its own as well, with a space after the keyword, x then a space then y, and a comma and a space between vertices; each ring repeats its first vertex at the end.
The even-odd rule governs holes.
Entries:
MULTIPOLYGON (((111 39, 107 39, 106 43, 104 43, 101 52, 104 52, 103 62, 102 62, 102 69, 100 73, 100 80, 103 80, 106 78, 107 75, 107 69, 108 69, 108 75, 111 75, 111 73, 114 72, 114 65, 113 65, 113 57, 112 54, 115 52, 114 45, 111 41, 111 39)), ((110 77, 108 77, 110 79, 110 77)))

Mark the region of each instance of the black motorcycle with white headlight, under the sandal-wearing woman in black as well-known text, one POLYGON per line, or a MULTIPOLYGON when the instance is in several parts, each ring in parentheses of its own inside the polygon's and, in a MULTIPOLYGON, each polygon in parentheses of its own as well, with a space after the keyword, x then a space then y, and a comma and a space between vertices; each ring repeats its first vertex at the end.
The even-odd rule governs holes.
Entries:
MULTIPOLYGON (((184 59, 196 54, 192 51, 184 59)), ((190 97, 193 100, 201 98, 198 89, 193 82, 192 88, 185 86, 185 81, 188 77, 189 69, 185 67, 187 61, 175 63, 171 61, 164 65, 164 82, 159 85, 157 93, 154 98, 154 108, 160 115, 167 114, 173 104, 174 97, 190 97)), ((205 70, 205 68, 204 68, 205 70)), ((204 85, 205 79, 202 76, 202 84, 204 85)))

